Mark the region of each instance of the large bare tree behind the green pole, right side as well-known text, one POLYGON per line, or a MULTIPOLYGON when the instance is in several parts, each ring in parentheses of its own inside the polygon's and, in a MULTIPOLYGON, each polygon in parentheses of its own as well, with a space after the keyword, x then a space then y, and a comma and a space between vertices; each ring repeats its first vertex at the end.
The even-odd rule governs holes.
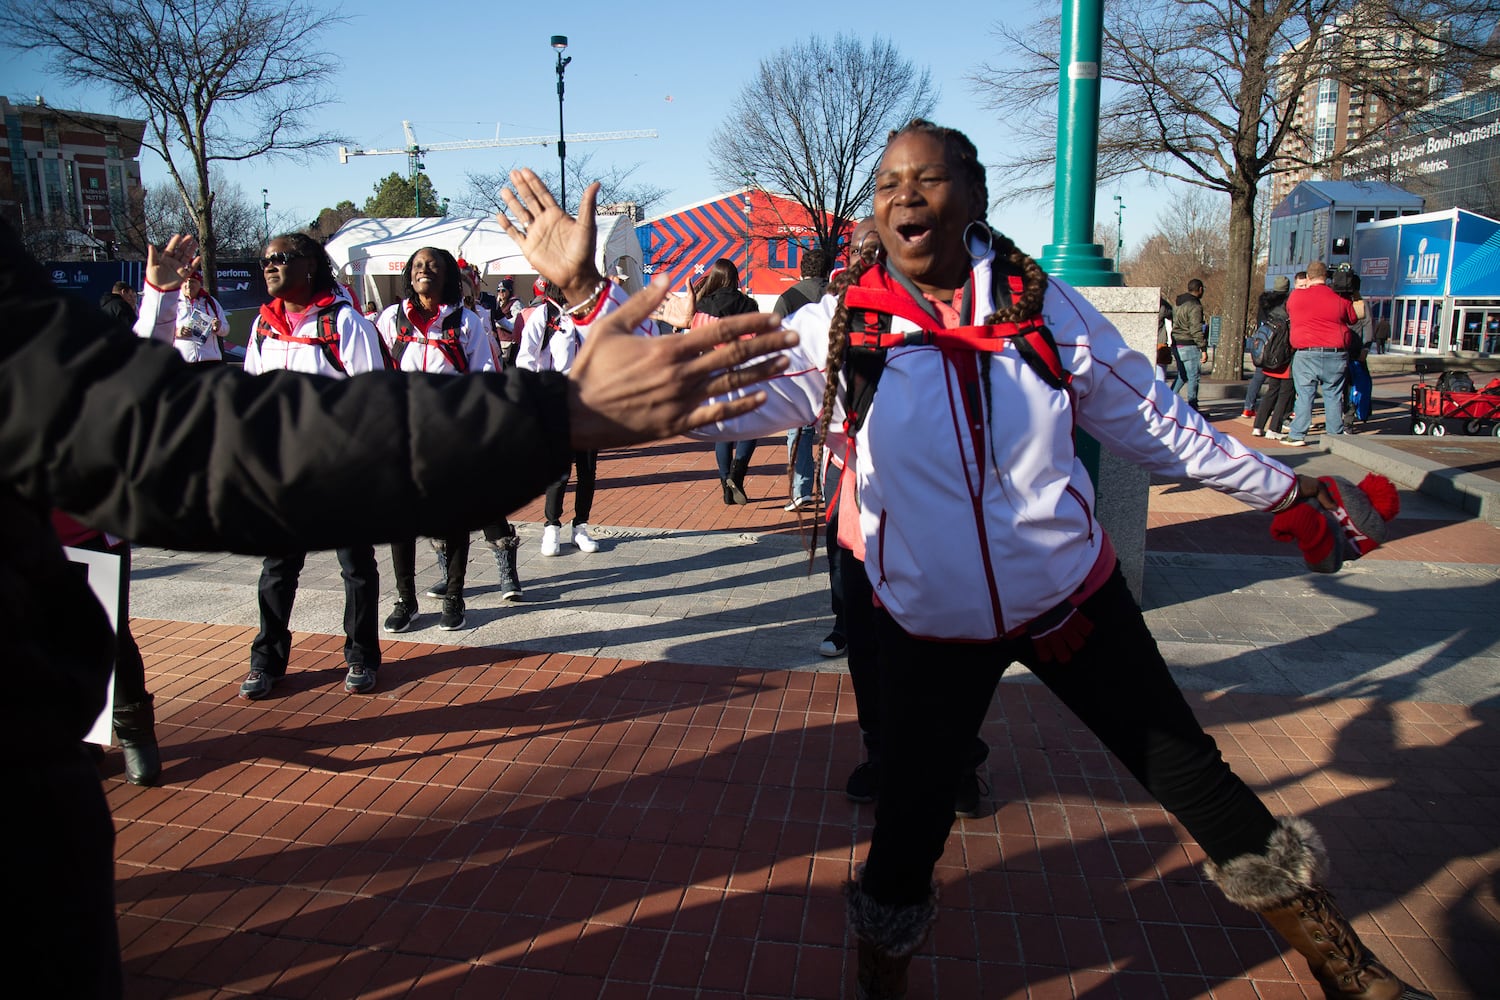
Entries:
MULTIPOLYGON (((1386 120, 1428 99, 1416 79, 1462 72, 1494 21, 1494 0, 1118 0, 1104 7, 1106 99, 1100 177, 1146 169, 1228 195, 1224 328, 1214 375, 1239 364, 1252 297, 1256 201, 1266 177, 1324 168, 1358 153, 1378 127, 1342 150, 1317 142, 1296 100, 1334 76, 1378 97, 1386 120), (1380 39, 1404 37, 1400 51, 1380 39), (1371 45, 1376 45, 1371 48, 1371 45), (1278 100, 1278 94, 1281 99, 1278 100), (1288 156, 1288 150, 1298 150, 1288 156)), ((1056 148, 1058 18, 996 25, 1022 70, 986 66, 974 76, 1022 136, 1004 169, 1012 193, 1050 186, 1056 148)))

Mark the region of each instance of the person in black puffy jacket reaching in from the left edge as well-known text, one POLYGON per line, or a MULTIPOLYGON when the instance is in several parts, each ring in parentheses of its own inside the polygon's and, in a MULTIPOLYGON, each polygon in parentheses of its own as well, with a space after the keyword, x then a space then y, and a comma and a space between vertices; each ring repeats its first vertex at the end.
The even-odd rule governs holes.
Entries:
MULTIPOLYGON (((153 249, 147 280, 176 294, 192 250, 184 237, 153 249)), ((24 915, 0 939, 6 967, 45 969, 56 997, 123 988, 114 829, 81 744, 105 705, 114 636, 51 508, 136 543, 248 555, 476 528, 538 495, 576 448, 654 441, 764 402, 700 405, 782 370, 780 358, 726 369, 795 334, 746 316, 687 337, 628 336, 663 294, 627 303, 614 334, 597 324, 570 378, 252 378, 188 364, 116 327, 54 288, 0 223, 0 600, 10 615, 0 850, 15 862, 8 900, 24 915), (410 517, 393 519, 398 508, 410 517)))

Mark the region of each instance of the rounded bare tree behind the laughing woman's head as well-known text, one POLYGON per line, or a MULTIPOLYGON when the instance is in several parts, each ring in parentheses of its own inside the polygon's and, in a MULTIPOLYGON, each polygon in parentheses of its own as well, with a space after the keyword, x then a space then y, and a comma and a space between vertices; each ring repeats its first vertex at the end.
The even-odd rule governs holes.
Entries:
POLYGON ((936 100, 930 73, 890 42, 812 37, 760 63, 708 142, 711 168, 726 187, 786 192, 832 259, 870 202, 886 135, 936 100))

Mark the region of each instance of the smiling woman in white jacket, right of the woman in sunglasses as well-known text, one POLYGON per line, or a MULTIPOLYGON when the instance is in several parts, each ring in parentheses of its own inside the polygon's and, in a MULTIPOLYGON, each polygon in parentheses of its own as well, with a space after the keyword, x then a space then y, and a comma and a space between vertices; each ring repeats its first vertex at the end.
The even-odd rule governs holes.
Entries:
MULTIPOLYGON (((494 340, 480 318, 464 306, 462 271, 453 255, 424 246, 406 259, 400 301, 387 306, 375 321, 386 354, 398 372, 462 375, 494 372, 494 340)), ((444 580, 438 628, 464 628, 464 574, 468 568, 470 532, 454 532, 441 541, 444 580)), ((417 619, 417 543, 402 538, 390 544, 396 576, 396 604, 386 618, 386 631, 404 633, 417 619)), ((436 591, 438 588, 434 588, 436 591)), ((432 591, 429 591, 432 594, 432 591)))

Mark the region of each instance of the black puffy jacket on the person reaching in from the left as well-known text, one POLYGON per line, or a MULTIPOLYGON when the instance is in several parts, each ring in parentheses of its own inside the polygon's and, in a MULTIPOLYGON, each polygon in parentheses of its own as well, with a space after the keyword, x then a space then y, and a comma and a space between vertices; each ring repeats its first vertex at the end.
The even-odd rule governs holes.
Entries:
POLYGON ((0 309, 0 748, 12 759, 76 759, 114 655, 50 508, 186 550, 442 538, 538 495, 573 454, 561 375, 333 381, 188 364, 52 288, 3 223, 0 309))

